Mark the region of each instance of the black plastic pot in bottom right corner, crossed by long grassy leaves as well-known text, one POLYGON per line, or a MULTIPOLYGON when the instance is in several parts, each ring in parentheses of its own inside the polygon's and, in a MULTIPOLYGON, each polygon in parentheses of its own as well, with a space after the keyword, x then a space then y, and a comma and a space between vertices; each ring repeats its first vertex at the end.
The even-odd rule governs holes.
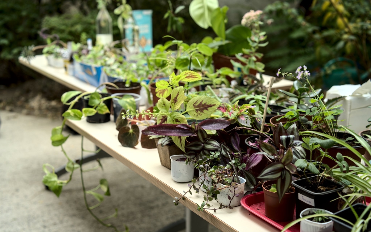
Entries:
MULTIPOLYGON (((352 205, 352 207, 354 208, 357 215, 361 216, 362 212, 366 209, 367 206, 364 204, 358 203, 358 204, 352 205)), ((366 213, 363 218, 366 219, 368 214, 369 213, 366 213)), ((344 218, 351 223, 355 223, 357 220, 350 207, 340 210, 339 212, 336 212, 334 215, 344 218)), ((334 217, 330 217, 330 219, 334 221, 335 232, 351 232, 352 231, 352 226, 349 225, 347 222, 344 222, 343 220, 339 218, 334 218, 334 217)), ((366 232, 370 232, 370 231, 371 231, 371 223, 368 223, 366 232)))

